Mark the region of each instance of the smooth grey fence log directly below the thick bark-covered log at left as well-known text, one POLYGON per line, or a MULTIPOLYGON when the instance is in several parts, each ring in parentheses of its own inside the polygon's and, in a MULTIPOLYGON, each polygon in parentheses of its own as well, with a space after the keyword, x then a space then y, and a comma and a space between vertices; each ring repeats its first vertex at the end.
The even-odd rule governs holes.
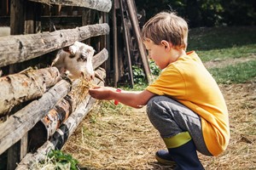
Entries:
POLYGON ((57 82, 54 87, 44 93, 38 100, 33 100, 15 115, 9 116, 6 122, 0 124, 0 155, 12 144, 24 136, 53 106, 67 95, 70 83, 65 80, 57 82))

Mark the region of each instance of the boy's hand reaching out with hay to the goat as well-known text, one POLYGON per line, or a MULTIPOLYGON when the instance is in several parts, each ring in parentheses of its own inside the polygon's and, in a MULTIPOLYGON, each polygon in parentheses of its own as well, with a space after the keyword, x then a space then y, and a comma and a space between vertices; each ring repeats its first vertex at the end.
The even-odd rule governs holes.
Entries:
POLYGON ((110 100, 111 98, 111 93, 115 92, 115 88, 110 88, 110 87, 95 87, 95 88, 90 88, 89 89, 89 94, 91 97, 95 99, 107 99, 110 100))

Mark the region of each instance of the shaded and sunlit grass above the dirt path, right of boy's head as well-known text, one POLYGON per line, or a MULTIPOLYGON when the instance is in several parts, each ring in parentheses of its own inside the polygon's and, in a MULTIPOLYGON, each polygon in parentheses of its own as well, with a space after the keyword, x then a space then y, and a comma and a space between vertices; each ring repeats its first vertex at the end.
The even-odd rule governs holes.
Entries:
POLYGON ((189 31, 188 50, 195 50, 203 62, 246 58, 256 54, 255 32, 255 26, 197 28, 189 31))

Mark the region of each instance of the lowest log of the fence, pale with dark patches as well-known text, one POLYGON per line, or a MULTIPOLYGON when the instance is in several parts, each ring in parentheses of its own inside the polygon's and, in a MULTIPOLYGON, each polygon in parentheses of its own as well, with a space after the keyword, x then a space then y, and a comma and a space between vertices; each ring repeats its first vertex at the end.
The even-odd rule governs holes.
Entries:
MULTIPOLYGON (((100 86, 104 85, 104 83, 99 82, 99 80, 97 80, 97 82, 100 86)), ((32 167, 33 163, 44 160, 50 150, 61 150, 63 144, 72 135, 76 127, 78 127, 79 123, 84 119, 84 116, 89 113, 95 103, 96 99, 93 99, 90 97, 90 95, 87 95, 83 103, 81 103, 78 109, 67 118, 67 121, 57 129, 53 137, 47 140, 44 145, 41 146, 34 154, 26 154, 26 156, 18 164, 16 170, 29 169, 32 167)))

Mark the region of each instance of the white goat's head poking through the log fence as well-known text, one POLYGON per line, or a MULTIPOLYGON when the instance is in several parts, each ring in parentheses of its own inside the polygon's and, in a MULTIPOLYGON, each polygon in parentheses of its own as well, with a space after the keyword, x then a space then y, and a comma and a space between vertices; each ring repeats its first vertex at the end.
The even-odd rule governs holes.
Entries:
POLYGON ((54 59, 52 66, 58 68, 63 76, 67 73, 67 76, 71 79, 77 79, 84 77, 88 80, 99 77, 95 71, 93 71, 92 57, 95 50, 82 42, 74 42, 73 45, 61 49, 56 58, 54 59))

